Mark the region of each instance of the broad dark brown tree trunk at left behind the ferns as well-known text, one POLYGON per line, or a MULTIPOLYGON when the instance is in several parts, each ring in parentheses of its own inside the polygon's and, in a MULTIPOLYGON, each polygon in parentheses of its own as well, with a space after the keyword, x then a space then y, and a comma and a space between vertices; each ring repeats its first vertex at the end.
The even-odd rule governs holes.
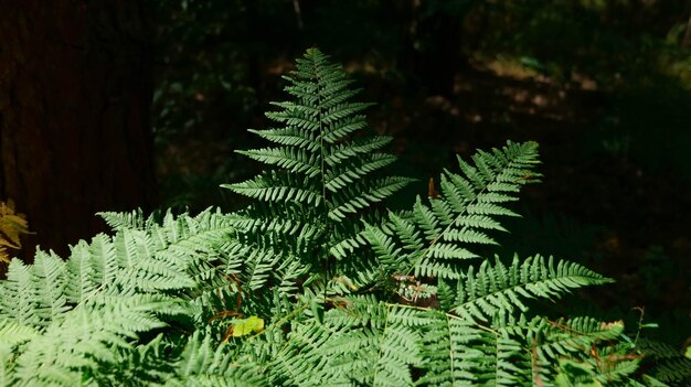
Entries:
POLYGON ((142 3, 0 0, 0 200, 36 233, 26 260, 156 203, 142 3))

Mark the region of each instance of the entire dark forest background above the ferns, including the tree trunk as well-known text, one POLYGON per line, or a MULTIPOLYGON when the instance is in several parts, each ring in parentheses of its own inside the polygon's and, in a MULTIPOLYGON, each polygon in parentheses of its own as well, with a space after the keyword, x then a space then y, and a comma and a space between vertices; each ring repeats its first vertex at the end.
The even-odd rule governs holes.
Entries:
POLYGON ((104 229, 97 211, 236 209, 236 149, 319 46, 375 101, 397 173, 425 195, 455 155, 541 144, 504 249, 618 283, 613 313, 691 336, 691 2, 681 0, 0 0, 0 200, 36 244, 104 229), (671 329, 670 329, 671 327, 671 329))

